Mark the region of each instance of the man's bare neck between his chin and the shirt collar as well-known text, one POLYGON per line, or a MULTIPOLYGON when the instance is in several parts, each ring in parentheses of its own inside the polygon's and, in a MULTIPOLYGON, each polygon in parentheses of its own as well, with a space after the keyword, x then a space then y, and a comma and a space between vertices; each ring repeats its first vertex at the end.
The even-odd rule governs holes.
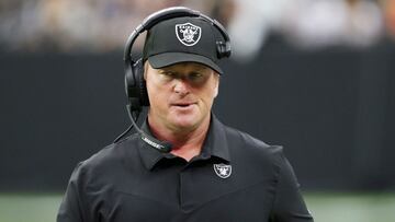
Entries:
POLYGON ((171 153, 187 161, 199 155, 202 151, 204 139, 210 127, 210 115, 195 129, 190 130, 169 130, 168 128, 156 126, 149 122, 153 135, 172 144, 171 153))

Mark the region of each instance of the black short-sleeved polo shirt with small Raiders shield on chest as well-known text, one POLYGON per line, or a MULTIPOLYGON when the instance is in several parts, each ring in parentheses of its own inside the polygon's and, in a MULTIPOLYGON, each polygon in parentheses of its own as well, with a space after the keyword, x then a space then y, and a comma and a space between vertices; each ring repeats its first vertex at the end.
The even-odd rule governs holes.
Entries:
POLYGON ((190 162, 133 135, 78 164, 57 221, 313 221, 282 148, 212 117, 190 162))

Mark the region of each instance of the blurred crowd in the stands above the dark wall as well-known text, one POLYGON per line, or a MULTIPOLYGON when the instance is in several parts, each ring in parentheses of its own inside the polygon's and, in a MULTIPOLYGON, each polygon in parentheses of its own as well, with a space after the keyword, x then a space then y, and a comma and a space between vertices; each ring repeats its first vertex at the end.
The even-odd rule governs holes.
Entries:
POLYGON ((395 39, 395 0, 1 0, 0 48, 119 50, 146 15, 173 5, 222 22, 235 56, 245 59, 272 34, 304 49, 369 47, 383 37, 395 39))

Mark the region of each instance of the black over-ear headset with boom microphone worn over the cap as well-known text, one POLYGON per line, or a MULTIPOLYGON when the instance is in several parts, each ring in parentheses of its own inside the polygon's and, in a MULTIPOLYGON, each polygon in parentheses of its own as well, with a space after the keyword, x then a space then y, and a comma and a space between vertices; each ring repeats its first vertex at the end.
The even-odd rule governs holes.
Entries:
POLYGON ((114 143, 117 142, 121 138, 123 138, 133 127, 135 127, 135 129, 140 133, 142 139, 145 142, 147 142, 148 144, 150 144, 151 147, 156 148, 159 151, 162 152, 170 151, 171 144, 165 144, 168 142, 158 141, 155 138, 149 137, 143 130, 140 130, 135 122, 138 118, 139 113, 142 112, 142 108, 144 106, 149 106, 149 100, 148 100, 146 82, 144 79, 143 58, 134 60, 132 58, 132 48, 135 40, 142 33, 149 31, 151 27, 154 27, 156 24, 162 21, 171 20, 176 17, 183 17, 183 16, 200 17, 212 24, 214 27, 216 27, 216 30, 219 31, 221 35, 223 36, 223 40, 224 40, 224 42, 223 40, 216 42, 217 58, 221 59, 230 56, 232 52, 230 39, 224 26, 216 20, 213 20, 207 15, 202 14, 199 11, 191 10, 184 7, 172 7, 160 10, 147 16, 143 21, 143 23, 139 24, 132 32, 125 45, 125 50, 124 50, 125 91, 128 100, 127 110, 133 125, 131 125, 131 127, 125 132, 119 136, 115 139, 114 143), (134 117, 135 113, 136 113, 136 117, 134 117), (169 145, 170 148, 168 148, 169 145))

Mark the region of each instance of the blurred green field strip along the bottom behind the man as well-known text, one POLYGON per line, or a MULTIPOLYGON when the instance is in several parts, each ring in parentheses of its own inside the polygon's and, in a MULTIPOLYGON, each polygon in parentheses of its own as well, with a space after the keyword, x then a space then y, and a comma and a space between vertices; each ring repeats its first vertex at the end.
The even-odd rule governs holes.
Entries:
MULTIPOLYGON (((395 192, 307 192, 316 222, 394 222, 395 192)), ((0 222, 54 222, 59 194, 0 194, 0 222)))

